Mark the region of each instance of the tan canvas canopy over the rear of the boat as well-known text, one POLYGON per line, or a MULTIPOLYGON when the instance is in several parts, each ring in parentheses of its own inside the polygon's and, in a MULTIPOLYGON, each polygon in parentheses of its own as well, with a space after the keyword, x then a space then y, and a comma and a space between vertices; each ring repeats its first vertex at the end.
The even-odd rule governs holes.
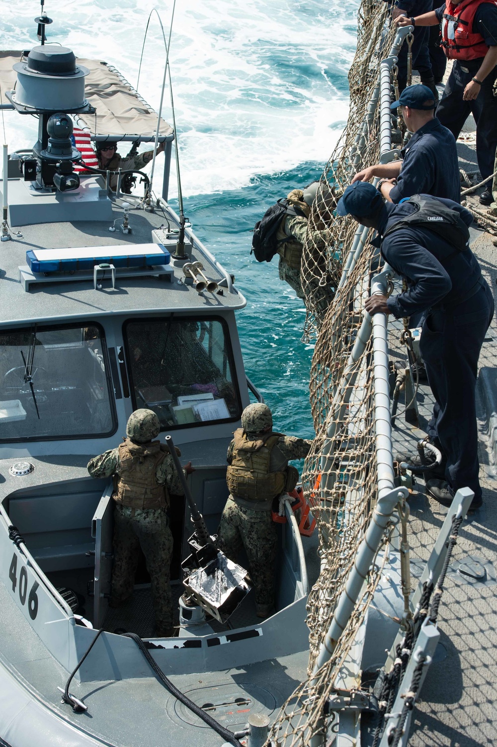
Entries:
MULTIPOLYGON (((22 52, 0 52, 1 103, 8 104, 5 91, 16 85, 13 63, 19 62, 22 52)), ((78 63, 90 69, 85 78, 84 93, 96 108, 95 114, 78 114, 78 124, 88 127, 93 134, 116 139, 134 136, 151 140, 157 128, 157 113, 112 65, 100 60, 79 59, 78 63)), ((160 138, 172 140, 172 127, 160 120, 160 138)))

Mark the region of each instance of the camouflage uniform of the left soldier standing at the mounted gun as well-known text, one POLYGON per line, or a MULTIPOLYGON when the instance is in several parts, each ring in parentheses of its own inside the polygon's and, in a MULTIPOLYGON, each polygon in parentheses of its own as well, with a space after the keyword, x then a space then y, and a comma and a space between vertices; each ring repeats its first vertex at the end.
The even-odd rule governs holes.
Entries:
MULTIPOLYGON (((151 411, 137 410, 136 412, 151 411)), ((136 412, 134 415, 136 415, 136 412)), ((131 418, 134 415, 131 415, 131 418)), ((157 433, 154 435, 157 436, 157 433)), ((145 437, 146 429, 143 429, 143 433, 140 435, 145 437)), ((157 455, 161 448, 163 450, 158 441, 134 444, 127 438, 125 444, 132 454, 142 458, 157 455)), ((100 456, 90 459, 88 471, 92 477, 114 476, 115 479, 118 478, 122 471, 119 447, 105 451, 100 456)), ((183 495, 183 488, 175 470, 172 456, 169 453, 164 453, 163 460, 157 465, 155 481, 159 486, 166 486, 169 494, 183 495)), ((172 633, 173 625, 171 586, 169 583, 172 533, 169 529, 167 506, 145 509, 123 506, 122 503, 117 502, 118 493, 117 490, 113 492, 116 505, 114 508, 114 562, 110 605, 117 607, 131 596, 134 574, 140 557, 139 551, 142 548, 151 580, 156 634, 158 636, 169 635, 172 633)))

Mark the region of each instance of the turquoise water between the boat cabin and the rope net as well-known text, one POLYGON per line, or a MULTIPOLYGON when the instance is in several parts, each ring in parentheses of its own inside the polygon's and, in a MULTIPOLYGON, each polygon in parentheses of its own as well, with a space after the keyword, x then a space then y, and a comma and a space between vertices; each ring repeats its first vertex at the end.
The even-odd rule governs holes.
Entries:
POLYGON ((248 377, 271 407, 275 426, 293 436, 313 436, 309 370, 313 345, 301 342, 305 309, 278 278, 278 259, 258 263, 250 255, 251 230, 276 196, 319 179, 321 164, 256 176, 238 190, 187 199, 184 209, 202 241, 229 267, 247 299, 237 313, 248 377))

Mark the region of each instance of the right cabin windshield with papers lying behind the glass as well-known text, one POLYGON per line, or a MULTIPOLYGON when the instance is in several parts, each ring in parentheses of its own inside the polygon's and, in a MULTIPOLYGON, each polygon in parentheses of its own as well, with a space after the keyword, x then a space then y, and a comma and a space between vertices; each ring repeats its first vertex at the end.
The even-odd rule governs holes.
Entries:
POLYGON ((134 406, 154 410, 161 430, 240 418, 224 320, 129 320, 124 337, 134 406))

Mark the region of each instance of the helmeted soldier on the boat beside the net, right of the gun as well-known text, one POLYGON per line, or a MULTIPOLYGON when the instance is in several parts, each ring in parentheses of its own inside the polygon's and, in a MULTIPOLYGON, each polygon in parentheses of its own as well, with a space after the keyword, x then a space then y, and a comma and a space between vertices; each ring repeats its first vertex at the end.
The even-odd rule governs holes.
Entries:
POLYGON ((311 444, 273 432, 269 407, 253 404, 243 410, 242 427, 228 447, 230 496, 222 512, 218 546, 235 562, 245 548, 258 617, 271 615, 275 604, 278 540, 271 518, 273 500, 295 488, 298 471, 288 462, 307 456, 311 444))

